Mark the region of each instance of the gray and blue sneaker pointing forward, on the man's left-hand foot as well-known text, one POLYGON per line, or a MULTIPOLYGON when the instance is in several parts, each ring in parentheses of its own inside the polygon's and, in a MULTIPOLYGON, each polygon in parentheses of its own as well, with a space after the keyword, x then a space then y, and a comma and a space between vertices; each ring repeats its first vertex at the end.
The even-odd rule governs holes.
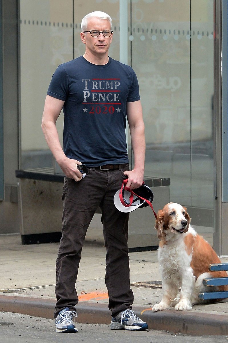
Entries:
POLYGON ((56 332, 78 332, 75 327, 73 318, 77 317, 75 311, 71 311, 68 307, 65 307, 59 312, 55 319, 55 331, 56 332))

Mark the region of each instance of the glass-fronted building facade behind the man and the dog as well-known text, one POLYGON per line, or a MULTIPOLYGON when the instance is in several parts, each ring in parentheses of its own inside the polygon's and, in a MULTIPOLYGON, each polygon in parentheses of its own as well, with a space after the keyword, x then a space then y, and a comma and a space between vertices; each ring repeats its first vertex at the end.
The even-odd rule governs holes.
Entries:
MULTIPOLYGON (((47 88, 59 64, 84 54, 83 16, 102 10, 113 21, 110 56, 139 80, 145 178, 170 179, 168 200, 187 206, 197 231, 228 255, 227 1, 0 3, 0 234, 23 225, 15 170, 61 172, 41 131, 47 88)), ((62 141, 63 115, 57 125, 62 141)))

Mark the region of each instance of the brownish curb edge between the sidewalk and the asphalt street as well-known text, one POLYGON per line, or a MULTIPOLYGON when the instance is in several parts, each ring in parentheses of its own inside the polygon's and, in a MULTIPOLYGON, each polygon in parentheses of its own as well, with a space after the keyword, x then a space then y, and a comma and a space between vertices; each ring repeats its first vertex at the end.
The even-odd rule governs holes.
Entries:
MULTIPOLYGON (((53 319, 54 299, 0 295, 0 311, 53 319)), ((77 305, 79 323, 110 324, 107 305, 80 302, 77 305)), ((135 307, 134 312, 148 323, 151 330, 172 331, 191 335, 228 335, 228 316, 194 311, 165 310, 135 307)))

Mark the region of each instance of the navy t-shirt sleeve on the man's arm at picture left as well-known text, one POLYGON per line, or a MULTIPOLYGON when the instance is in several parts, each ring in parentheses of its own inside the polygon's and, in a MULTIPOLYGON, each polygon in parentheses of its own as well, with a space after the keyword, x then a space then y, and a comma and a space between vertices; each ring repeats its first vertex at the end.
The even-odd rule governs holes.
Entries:
POLYGON ((56 99, 65 101, 68 93, 68 85, 69 82, 66 71, 62 66, 59 66, 52 75, 47 94, 56 99))

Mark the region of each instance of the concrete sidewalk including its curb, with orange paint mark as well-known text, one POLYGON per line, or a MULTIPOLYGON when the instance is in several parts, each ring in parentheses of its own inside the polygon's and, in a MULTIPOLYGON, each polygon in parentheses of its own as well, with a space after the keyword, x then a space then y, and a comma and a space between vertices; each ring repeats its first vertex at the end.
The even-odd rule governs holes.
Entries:
MULTIPOLYGON (((21 236, 0 236, 0 311, 53 318, 57 243, 22 245, 21 236)), ((191 311, 170 309, 153 313, 161 299, 157 251, 131 252, 131 288, 134 311, 149 329, 198 335, 228 335, 226 301, 196 305, 191 311)), ((228 262, 228 258, 222 258, 228 262)), ((104 282, 105 248, 102 232, 88 231, 82 251, 78 281, 77 322, 109 324, 110 311, 104 282)))

